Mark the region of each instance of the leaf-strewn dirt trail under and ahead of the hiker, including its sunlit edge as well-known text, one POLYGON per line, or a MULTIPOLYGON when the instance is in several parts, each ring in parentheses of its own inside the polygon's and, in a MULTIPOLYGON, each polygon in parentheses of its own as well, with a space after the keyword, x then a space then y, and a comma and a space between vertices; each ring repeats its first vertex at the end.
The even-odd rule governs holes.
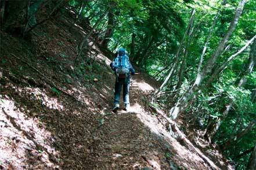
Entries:
POLYGON ((89 167, 176 169, 181 166, 189 169, 210 169, 200 157, 190 153, 171 138, 156 116, 146 112, 143 100, 157 84, 152 83, 152 79, 142 73, 133 78, 130 91, 131 112, 119 110, 103 116, 102 124, 93 133, 89 167))

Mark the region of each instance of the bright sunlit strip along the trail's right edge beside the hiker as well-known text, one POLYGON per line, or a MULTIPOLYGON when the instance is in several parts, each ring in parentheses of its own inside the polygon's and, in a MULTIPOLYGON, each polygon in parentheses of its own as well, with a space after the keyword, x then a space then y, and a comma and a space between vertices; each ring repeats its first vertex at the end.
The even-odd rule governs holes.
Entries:
MULTIPOLYGON (((139 91, 144 93, 139 94, 139 96, 146 96, 148 90, 153 90, 152 86, 143 81, 139 82, 137 79, 133 86, 135 86, 135 91, 133 91, 133 93, 139 94, 139 91)), ((168 147, 171 149, 168 154, 172 155, 172 158, 174 159, 172 161, 181 162, 184 167, 193 167, 193 169, 198 169, 201 164, 205 165, 204 160, 194 153, 194 151, 190 150, 185 142, 183 142, 183 139, 179 139, 179 137, 178 139, 175 139, 171 136, 170 132, 166 130, 166 127, 158 121, 159 117, 157 117, 157 113, 147 112, 144 108, 145 106, 142 106, 139 103, 131 104, 131 113, 137 113, 136 117, 138 117, 139 120, 153 132, 153 134, 156 134, 158 138, 161 138, 165 143, 168 143, 168 147)), ((148 157, 148 159, 150 160, 150 157, 148 157)), ((156 160, 152 158, 152 161, 154 162, 156 160)), ((207 165, 205 165, 205 167, 207 167, 207 165)))

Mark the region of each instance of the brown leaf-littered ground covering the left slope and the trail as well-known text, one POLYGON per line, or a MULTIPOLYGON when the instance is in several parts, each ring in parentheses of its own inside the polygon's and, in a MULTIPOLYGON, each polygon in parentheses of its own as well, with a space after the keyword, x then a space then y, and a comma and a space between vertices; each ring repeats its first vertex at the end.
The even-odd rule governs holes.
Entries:
POLYGON ((29 41, 1 32, 1 169, 232 169, 217 150, 201 150, 214 168, 171 136, 150 109, 159 84, 146 73, 133 76, 131 111, 111 112, 111 53, 93 45, 75 67, 86 29, 69 20, 29 41))

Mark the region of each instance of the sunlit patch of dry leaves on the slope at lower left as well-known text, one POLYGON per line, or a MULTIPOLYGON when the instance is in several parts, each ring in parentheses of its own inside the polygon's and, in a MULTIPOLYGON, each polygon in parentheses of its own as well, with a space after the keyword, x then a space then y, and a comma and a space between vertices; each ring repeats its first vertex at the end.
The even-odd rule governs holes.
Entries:
POLYGON ((51 161, 58 161, 60 157, 59 151, 52 147, 56 136, 46 131, 45 124, 36 117, 27 117, 26 112, 26 108, 17 108, 13 99, 1 97, 0 120, 4 125, 1 128, 0 160, 26 169, 29 166, 58 168, 51 161), (38 161, 28 163, 31 157, 38 158, 38 161))

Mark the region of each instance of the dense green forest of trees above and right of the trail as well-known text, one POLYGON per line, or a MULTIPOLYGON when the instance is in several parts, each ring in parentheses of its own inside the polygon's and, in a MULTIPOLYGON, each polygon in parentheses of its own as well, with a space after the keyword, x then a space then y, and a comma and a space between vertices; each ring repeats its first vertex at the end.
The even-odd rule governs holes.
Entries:
MULTIPOLYGON (((14 54, 4 57, 18 48, 8 47, 7 51, 6 36, 21 40, 25 49, 39 53, 31 45, 35 44, 35 36, 45 35, 38 30, 51 32, 45 25, 66 17, 66 25, 58 27, 68 34, 63 39, 75 43, 75 53, 71 56, 60 50, 57 56, 71 63, 78 75, 86 75, 93 46, 98 46, 110 60, 124 47, 136 72, 157 81, 159 86, 143 102, 152 114, 165 117, 164 127, 171 136, 177 138, 178 127, 194 145, 200 138, 207 143, 204 149, 218 150, 234 169, 256 168, 256 1, 6 0, 1 1, 0 15, 2 92, 6 82, 2 74, 7 74, 4 67, 8 67, 10 58, 19 58, 14 54), (84 30, 83 36, 74 31, 78 27, 84 30)), ((64 40, 56 44, 69 48, 64 40)), ((47 50, 39 53, 46 56, 45 64, 61 64, 48 60, 51 53, 47 50)), ((32 53, 27 55, 33 56, 32 53)), ((105 72, 89 66, 96 70, 95 75, 105 72)), ((37 65, 33 68, 38 71, 37 65)), ((94 73, 88 74, 91 75, 86 80, 100 80, 92 76, 94 73)), ((70 84, 68 76, 64 79, 70 84)), ((48 83, 55 93, 67 95, 64 88, 48 83)))

